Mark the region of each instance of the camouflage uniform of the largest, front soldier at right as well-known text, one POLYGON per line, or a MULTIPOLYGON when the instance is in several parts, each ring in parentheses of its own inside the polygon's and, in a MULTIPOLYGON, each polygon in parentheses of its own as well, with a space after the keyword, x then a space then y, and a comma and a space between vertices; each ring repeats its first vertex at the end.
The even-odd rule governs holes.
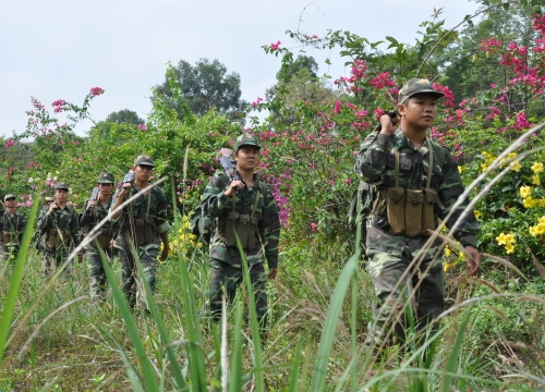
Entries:
MULTIPOLYGON (((400 95, 402 94, 403 90, 400 91, 400 95)), ((377 201, 382 191, 395 186, 396 150, 399 151, 400 157, 399 186, 407 189, 423 189, 426 187, 427 176, 431 173, 431 188, 437 192, 439 201, 445 207, 440 211, 438 208, 435 209, 435 223, 437 224, 438 219, 445 220, 452 205, 464 191, 458 166, 447 148, 429 138, 426 138, 422 147, 416 149, 400 127, 391 136, 373 132, 361 146, 354 169, 361 181, 375 185, 375 189, 378 191, 374 193, 373 201, 377 201), (432 170, 429 170, 431 149, 433 151, 432 170)), ((448 228, 458 220, 467 205, 468 200, 464 200, 453 211, 446 221, 448 228)), ((375 322, 370 323, 366 340, 368 345, 382 344, 392 318, 402 313, 403 303, 410 297, 412 289, 417 284, 412 306, 415 309, 419 328, 432 323, 433 329, 436 330, 438 324, 433 320, 445 308, 444 269, 440 256, 441 240, 437 238, 422 257, 419 254, 424 248, 428 236, 393 235, 387 228, 382 230, 377 226, 378 218, 380 217, 372 215, 366 224, 368 257, 366 269, 373 279, 378 297, 378 304, 376 304, 374 311, 375 322), (413 265, 411 271, 399 282, 408 266, 417 255, 422 257, 422 262, 413 265), (396 285, 398 287, 393 290, 396 285)), ((462 223, 453 235, 462 246, 476 247, 475 234, 477 230, 477 222, 471 211, 463 217, 462 223)), ((404 329, 403 322, 397 323, 395 333, 403 339, 404 329)))

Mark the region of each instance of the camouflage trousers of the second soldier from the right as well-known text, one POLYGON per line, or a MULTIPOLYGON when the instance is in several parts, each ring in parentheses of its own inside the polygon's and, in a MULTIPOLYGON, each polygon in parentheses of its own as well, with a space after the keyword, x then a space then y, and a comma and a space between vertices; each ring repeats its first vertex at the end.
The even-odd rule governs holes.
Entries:
MULTIPOLYGON (((227 262, 211 260, 210 262, 210 286, 208 290, 208 304, 210 315, 215 320, 221 317, 221 304, 223 291, 228 305, 232 304, 237 294, 237 287, 242 284, 244 270, 233 267, 227 262)), ((262 329, 267 327, 267 274, 263 262, 251 266, 250 280, 254 289, 255 314, 262 329)), ((247 314, 246 314, 247 319, 247 314)))

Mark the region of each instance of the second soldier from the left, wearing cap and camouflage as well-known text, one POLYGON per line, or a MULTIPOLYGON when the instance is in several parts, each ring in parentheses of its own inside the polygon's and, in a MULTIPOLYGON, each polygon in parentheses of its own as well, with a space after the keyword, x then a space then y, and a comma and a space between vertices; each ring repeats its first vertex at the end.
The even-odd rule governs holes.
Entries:
MULTIPOLYGON (((82 231, 76 210, 66 204, 69 185, 58 182, 55 185, 55 201, 45 206, 38 217, 41 234, 43 272, 45 275, 63 265, 70 252, 82 242, 82 231)), ((81 256, 78 256, 81 260, 81 256)), ((71 273, 71 266, 66 266, 71 273)))

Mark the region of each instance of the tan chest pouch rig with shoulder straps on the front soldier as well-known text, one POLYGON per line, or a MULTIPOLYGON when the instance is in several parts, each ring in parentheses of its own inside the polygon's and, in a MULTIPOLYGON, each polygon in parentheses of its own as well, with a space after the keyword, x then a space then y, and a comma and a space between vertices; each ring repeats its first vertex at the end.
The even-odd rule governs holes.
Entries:
MULTIPOLYGON (((432 144, 428 142, 428 145, 432 144)), ((426 187, 424 189, 408 189, 399 186, 399 151, 396 150, 395 186, 379 191, 374 211, 384 217, 386 210, 387 222, 379 225, 393 235, 431 235, 436 229, 435 209, 445 209, 437 192, 429 187, 433 172, 433 150, 429 149, 429 162, 426 187)))

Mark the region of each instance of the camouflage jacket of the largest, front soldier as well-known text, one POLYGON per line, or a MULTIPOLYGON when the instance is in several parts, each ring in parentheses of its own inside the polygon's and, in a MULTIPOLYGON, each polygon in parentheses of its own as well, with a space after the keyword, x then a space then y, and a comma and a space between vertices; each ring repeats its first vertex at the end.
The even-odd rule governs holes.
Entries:
MULTIPOLYGON (((428 152, 431 146, 427 140, 429 139, 426 139, 420 150, 417 150, 400 127, 391 136, 372 133, 362 143, 354 170, 361 181, 370 185, 375 185, 378 191, 395 186, 395 151, 397 149, 400 154, 400 186, 409 189, 425 188, 429 173, 428 152)), ((434 159, 429 186, 437 192, 439 200, 445 206, 443 211, 436 211, 436 218, 445 220, 450 213, 452 205, 463 193, 464 187, 460 179, 458 166, 449 150, 436 142, 432 142, 432 145, 434 159), (444 159, 440 159, 438 149, 443 149, 440 152, 444 154, 440 155, 444 155, 444 159)), ((377 195, 375 195, 376 197, 377 195)), ((446 221, 448 228, 451 228, 458 218, 460 218, 467 206, 468 200, 464 200, 452 212, 446 221)), ((462 222, 453 235, 463 246, 471 245, 476 247, 475 234, 477 230, 479 224, 475 216, 473 211, 470 211, 462 218, 462 222)), ((427 240, 427 236, 409 238, 404 235, 392 235, 388 231, 374 228, 372 222, 367 222, 367 247, 373 249, 400 255, 403 248, 408 246, 413 256, 416 256, 427 240)), ((427 256, 429 258, 433 257, 440 245, 441 241, 437 238, 434 246, 428 250, 427 256)))

